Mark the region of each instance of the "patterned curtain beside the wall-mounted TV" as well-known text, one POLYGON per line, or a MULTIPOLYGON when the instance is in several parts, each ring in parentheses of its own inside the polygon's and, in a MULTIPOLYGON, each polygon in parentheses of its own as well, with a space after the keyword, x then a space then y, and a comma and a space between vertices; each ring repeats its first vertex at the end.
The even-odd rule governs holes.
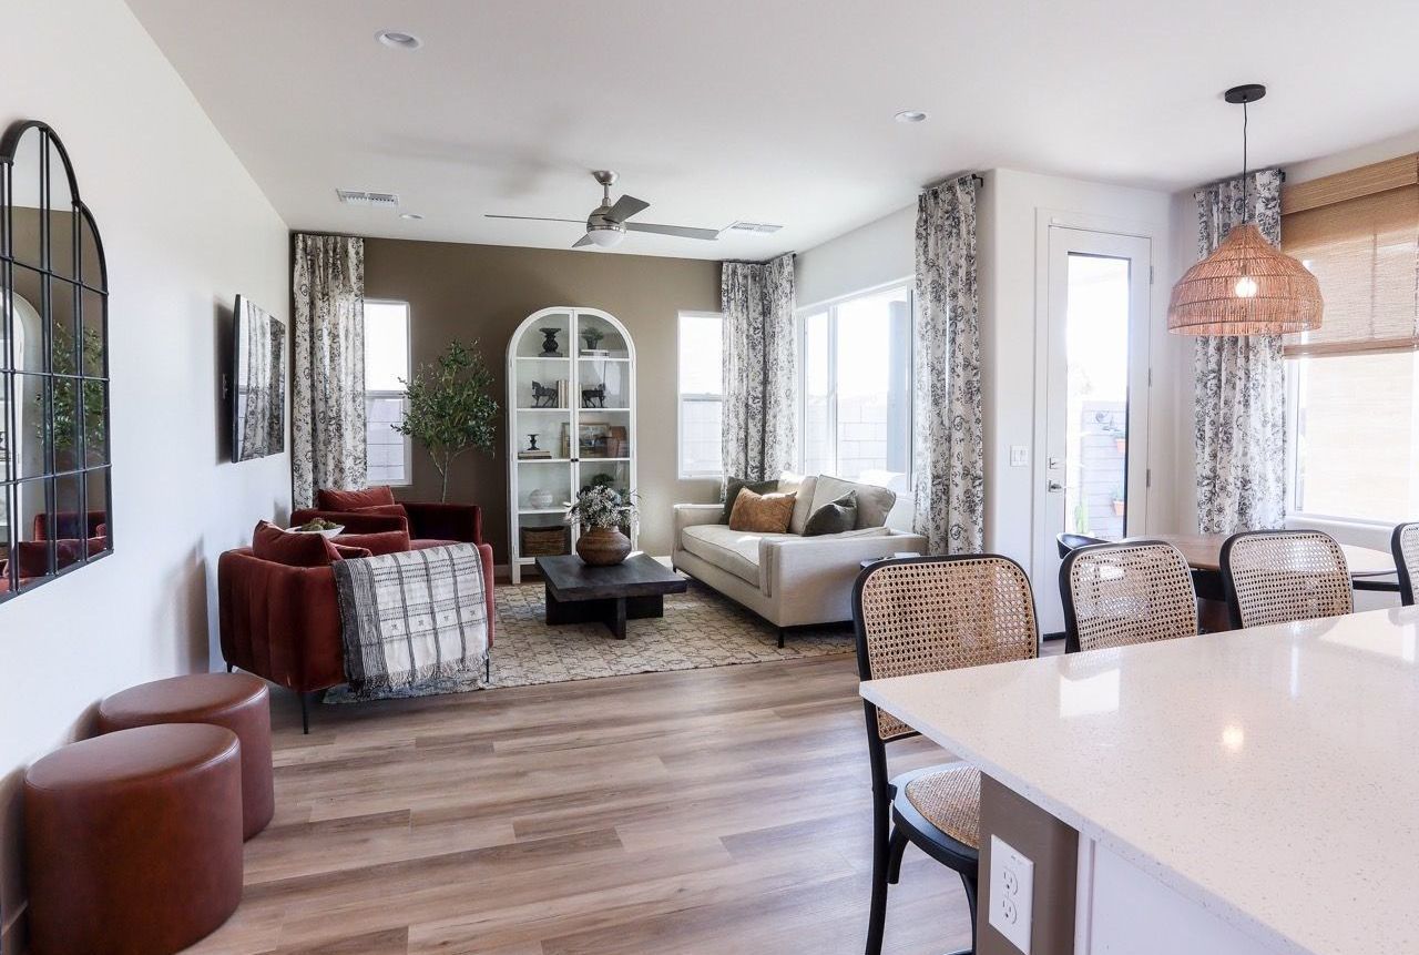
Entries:
POLYGON ((291 495, 365 487, 365 241, 295 237, 291 495))

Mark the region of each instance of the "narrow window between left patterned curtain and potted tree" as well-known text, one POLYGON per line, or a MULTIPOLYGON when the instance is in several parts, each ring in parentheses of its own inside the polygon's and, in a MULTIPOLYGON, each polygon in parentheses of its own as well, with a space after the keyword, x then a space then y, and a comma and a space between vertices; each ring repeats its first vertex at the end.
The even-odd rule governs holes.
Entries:
POLYGON ((409 302, 365 301, 365 454, 370 484, 413 480, 410 441, 403 423, 403 380, 409 379, 409 302))

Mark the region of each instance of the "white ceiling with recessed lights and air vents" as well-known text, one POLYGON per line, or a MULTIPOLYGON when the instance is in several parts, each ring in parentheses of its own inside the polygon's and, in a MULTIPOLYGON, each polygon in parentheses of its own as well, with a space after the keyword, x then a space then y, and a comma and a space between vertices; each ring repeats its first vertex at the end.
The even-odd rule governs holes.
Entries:
MULTIPOLYGON (((1412 0, 129 0, 292 228, 569 247, 595 167, 765 258, 996 166, 1181 189, 1415 126, 1412 0), (423 38, 390 50, 380 30, 423 38), (925 123, 893 121, 925 109, 925 123), (396 192, 419 223, 338 204, 396 192)), ((155 116, 153 122, 162 122, 155 116)), ((590 251, 587 254, 603 254, 590 251)))

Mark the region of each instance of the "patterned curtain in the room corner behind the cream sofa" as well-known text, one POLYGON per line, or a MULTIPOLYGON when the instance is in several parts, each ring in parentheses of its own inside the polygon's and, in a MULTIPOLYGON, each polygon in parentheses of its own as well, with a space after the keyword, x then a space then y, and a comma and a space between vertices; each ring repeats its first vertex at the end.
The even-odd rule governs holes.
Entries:
POLYGON ((797 349, 793 254, 724 263, 724 474, 775 478, 797 461, 797 349))

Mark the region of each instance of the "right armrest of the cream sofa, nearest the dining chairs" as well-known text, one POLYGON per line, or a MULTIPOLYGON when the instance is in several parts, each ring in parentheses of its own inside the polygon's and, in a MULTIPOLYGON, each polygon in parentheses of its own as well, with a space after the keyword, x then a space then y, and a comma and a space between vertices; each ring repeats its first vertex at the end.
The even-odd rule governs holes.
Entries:
POLYGON ((765 538, 759 541, 763 593, 793 600, 840 599, 851 592, 863 561, 897 551, 925 553, 927 538, 920 534, 765 538))

